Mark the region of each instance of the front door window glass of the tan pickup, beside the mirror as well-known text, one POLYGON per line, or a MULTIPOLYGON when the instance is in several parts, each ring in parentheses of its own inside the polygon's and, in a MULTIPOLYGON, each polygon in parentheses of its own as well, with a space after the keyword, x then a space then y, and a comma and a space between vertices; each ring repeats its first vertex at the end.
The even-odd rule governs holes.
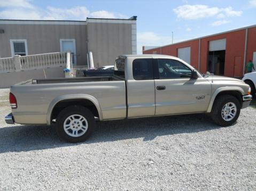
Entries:
POLYGON ((158 59, 159 79, 191 78, 191 70, 185 64, 172 59, 158 59))

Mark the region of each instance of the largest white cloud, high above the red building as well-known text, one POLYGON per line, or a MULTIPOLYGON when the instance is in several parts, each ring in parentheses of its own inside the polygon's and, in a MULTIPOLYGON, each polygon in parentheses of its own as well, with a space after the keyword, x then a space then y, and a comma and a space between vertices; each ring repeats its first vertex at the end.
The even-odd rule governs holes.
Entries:
POLYGON ((221 9, 219 7, 209 7, 207 5, 182 5, 173 9, 177 14, 177 18, 185 20, 202 19, 213 16, 240 16, 242 11, 234 11, 231 6, 221 9))

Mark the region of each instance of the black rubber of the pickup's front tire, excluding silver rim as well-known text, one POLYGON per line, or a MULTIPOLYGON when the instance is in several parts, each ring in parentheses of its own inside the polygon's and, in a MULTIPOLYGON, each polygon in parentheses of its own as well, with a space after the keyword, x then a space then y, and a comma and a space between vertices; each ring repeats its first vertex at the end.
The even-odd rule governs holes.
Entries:
POLYGON ((231 126, 232 124, 234 124, 237 120, 237 118, 239 117, 240 114, 240 110, 241 110, 241 104, 239 103, 238 99, 234 96, 231 95, 221 95, 218 96, 213 104, 213 108, 212 108, 212 112, 211 112, 211 118, 212 120, 218 124, 219 126, 222 127, 227 127, 227 126, 231 126), (222 118, 222 109, 224 107, 224 105, 226 105, 227 103, 234 103, 236 106, 236 113, 234 118, 229 119, 230 121, 224 120, 222 118))

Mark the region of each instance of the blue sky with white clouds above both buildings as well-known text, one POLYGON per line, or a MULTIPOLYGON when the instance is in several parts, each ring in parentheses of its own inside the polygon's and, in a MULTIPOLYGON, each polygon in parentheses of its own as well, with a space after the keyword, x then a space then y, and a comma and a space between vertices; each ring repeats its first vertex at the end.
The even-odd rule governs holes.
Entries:
POLYGON ((86 20, 137 16, 137 53, 256 24, 256 0, 0 0, 0 19, 86 20))

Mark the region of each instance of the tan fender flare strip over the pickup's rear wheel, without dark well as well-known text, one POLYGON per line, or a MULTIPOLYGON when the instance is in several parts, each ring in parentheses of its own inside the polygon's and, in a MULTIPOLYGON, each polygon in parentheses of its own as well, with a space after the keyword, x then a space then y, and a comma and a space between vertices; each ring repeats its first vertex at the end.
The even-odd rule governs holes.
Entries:
POLYGON ((68 95, 58 96, 58 97, 54 98, 52 100, 52 102, 50 103, 48 110, 47 110, 47 115, 46 115, 46 122, 48 125, 51 124, 51 114, 52 114, 52 110, 55 107, 55 105, 61 101, 66 100, 66 99, 87 99, 87 100, 91 101, 96 106, 96 109, 99 114, 99 120, 103 119, 102 110, 100 109, 99 102, 94 96, 91 96, 89 94, 68 94, 68 95))

